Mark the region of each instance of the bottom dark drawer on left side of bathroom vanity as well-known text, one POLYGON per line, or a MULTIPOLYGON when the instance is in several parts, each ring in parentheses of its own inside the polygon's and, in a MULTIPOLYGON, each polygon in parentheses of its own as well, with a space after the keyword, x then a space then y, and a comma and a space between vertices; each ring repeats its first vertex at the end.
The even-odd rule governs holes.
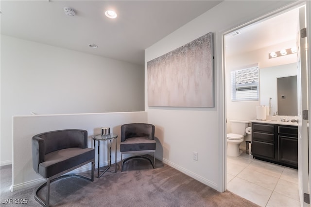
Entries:
POLYGON ((274 144, 261 141, 253 141, 252 143, 252 155, 260 155, 268 158, 275 158, 274 144))

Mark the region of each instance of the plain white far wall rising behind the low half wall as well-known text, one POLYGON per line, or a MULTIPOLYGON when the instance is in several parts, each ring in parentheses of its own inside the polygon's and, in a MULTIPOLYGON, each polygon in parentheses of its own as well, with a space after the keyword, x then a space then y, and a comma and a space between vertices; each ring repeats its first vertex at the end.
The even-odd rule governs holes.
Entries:
POLYGON ((144 111, 143 66, 1 35, 1 165, 12 116, 122 111, 144 111))

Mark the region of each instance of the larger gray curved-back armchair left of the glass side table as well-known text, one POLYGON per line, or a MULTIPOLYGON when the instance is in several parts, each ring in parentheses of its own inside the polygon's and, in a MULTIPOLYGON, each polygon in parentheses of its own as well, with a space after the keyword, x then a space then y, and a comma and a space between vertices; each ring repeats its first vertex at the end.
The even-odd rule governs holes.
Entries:
POLYGON ((86 130, 66 129, 35 135, 32 138, 32 154, 35 172, 46 179, 46 183, 35 192, 35 200, 42 206, 50 206, 52 181, 68 176, 94 180, 95 150, 87 148, 86 130), (91 178, 77 174, 63 175, 89 162, 92 162, 91 178), (47 194, 46 201, 43 201, 37 193, 45 186, 47 186, 47 194))

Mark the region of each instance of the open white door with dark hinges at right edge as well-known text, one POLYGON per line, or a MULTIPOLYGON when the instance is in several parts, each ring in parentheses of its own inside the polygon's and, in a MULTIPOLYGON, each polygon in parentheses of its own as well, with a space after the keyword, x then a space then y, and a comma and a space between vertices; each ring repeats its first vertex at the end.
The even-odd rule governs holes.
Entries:
MULTIPOLYGON (((306 28, 306 7, 299 8, 299 31, 297 34, 297 86, 298 86, 298 189, 300 203, 309 207, 304 198, 309 192, 309 160, 308 160, 308 64, 307 64, 307 37, 303 28, 306 28)), ((310 71, 310 70, 309 70, 310 71)))

